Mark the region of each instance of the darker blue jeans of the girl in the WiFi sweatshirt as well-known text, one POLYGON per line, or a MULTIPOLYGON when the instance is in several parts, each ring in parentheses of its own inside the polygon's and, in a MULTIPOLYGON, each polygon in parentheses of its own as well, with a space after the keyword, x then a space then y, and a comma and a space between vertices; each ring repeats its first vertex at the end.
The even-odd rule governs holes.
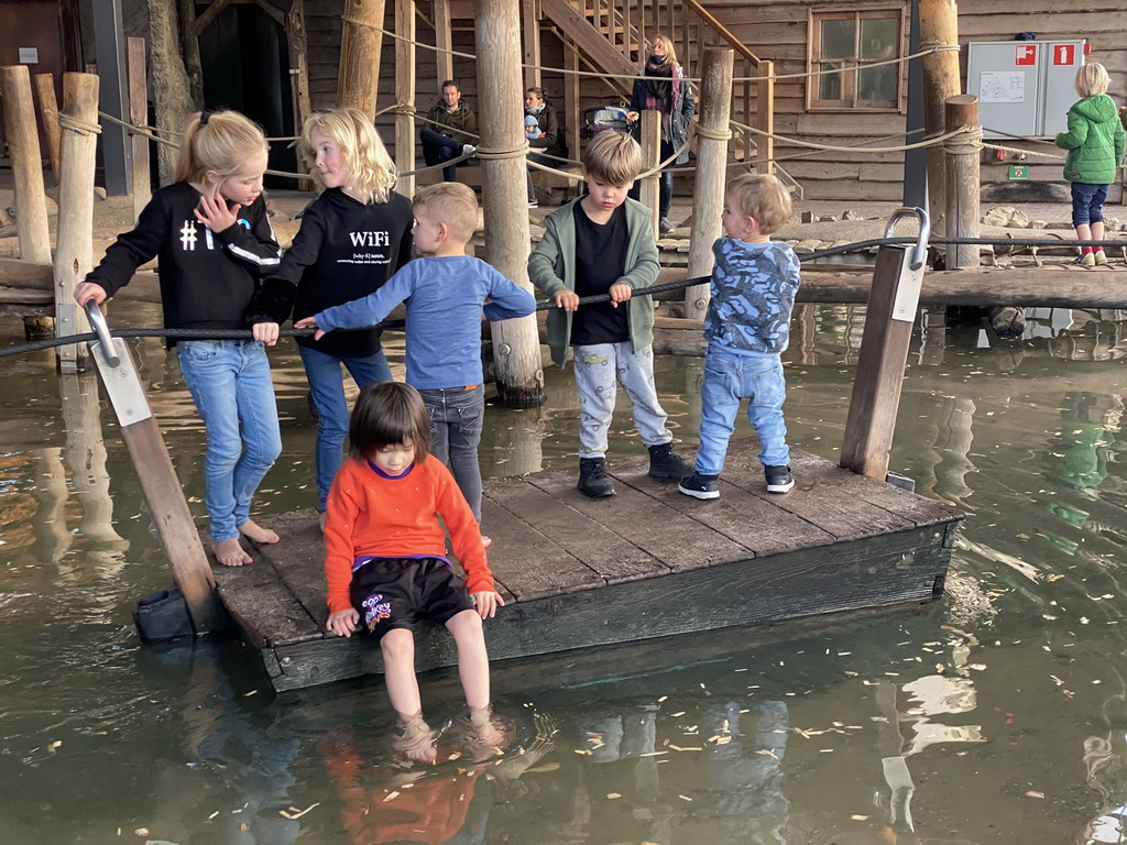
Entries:
POLYGON ((325 512, 332 479, 344 461, 345 437, 348 436, 348 400, 345 399, 344 364, 363 388, 372 382, 390 382, 391 368, 383 352, 365 358, 345 358, 299 346, 301 363, 305 365, 309 392, 319 416, 317 422, 317 509, 325 512))

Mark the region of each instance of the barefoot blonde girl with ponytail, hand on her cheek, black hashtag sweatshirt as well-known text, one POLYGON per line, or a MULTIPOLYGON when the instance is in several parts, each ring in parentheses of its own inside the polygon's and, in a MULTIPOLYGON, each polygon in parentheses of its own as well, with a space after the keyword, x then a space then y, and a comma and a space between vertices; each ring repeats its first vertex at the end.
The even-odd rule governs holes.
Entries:
MULTIPOLYGON (((263 199, 267 151, 263 131, 237 112, 193 115, 176 181, 152 195, 136 228, 106 250, 74 299, 100 304, 137 267, 159 258, 166 328, 246 329, 259 278, 278 266, 263 199)), ((255 340, 169 346, 207 432, 204 502, 212 551, 223 566, 249 563, 240 535, 278 542, 250 518, 251 498, 282 452, 266 350, 255 340)))

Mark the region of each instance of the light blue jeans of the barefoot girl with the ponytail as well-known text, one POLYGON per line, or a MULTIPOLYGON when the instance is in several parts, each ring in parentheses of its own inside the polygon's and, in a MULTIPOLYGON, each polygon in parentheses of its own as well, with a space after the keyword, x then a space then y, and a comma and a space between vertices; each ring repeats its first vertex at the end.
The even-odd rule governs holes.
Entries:
POLYGON ((282 453, 266 348, 255 340, 181 340, 176 354, 207 432, 204 504, 212 540, 236 540, 282 453))

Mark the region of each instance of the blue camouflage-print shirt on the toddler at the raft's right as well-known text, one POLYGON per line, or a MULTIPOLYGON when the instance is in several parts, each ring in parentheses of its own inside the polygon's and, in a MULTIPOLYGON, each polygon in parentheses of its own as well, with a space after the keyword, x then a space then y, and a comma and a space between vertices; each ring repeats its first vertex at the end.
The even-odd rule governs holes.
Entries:
POLYGON ((712 254, 716 268, 704 337, 737 353, 782 353, 790 340, 790 312, 801 281, 795 250, 779 241, 720 238, 712 254))

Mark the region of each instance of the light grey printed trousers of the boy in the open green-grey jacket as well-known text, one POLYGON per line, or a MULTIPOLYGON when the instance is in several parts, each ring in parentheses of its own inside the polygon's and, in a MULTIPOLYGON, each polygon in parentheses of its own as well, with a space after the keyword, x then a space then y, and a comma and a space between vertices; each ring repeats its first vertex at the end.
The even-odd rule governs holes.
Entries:
POLYGON ((654 348, 633 352, 629 340, 575 347, 575 385, 579 391, 579 457, 602 457, 614 416, 618 381, 633 409, 635 427, 647 446, 669 443, 667 415, 654 386, 654 348))

